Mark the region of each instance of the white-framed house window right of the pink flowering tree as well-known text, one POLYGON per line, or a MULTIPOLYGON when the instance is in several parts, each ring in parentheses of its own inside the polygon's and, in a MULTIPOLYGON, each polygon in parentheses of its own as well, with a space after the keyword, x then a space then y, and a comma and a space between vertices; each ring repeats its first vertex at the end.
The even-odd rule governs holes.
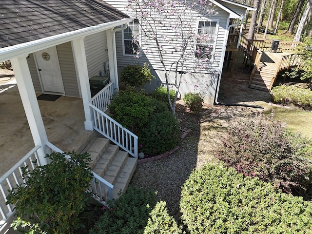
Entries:
POLYGON ((198 21, 195 57, 198 59, 213 59, 217 21, 198 21))

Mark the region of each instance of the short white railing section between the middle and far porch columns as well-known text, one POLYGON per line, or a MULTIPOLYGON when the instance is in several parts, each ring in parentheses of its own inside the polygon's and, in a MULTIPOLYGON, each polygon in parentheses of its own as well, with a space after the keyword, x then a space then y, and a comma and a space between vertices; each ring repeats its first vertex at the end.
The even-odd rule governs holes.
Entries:
POLYGON ((92 105, 96 106, 102 112, 107 110, 107 106, 111 103, 114 94, 114 82, 110 82, 101 91, 91 98, 92 105))

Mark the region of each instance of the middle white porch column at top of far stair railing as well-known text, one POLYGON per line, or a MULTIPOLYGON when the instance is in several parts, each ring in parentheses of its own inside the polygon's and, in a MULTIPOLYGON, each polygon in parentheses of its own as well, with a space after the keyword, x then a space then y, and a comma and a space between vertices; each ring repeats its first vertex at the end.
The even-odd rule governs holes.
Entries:
POLYGON ((88 66, 86 53, 84 49, 84 37, 72 40, 73 54, 76 66, 76 72, 80 82, 81 96, 83 102, 83 109, 85 115, 84 128, 86 130, 93 130, 93 115, 89 103, 91 102, 91 91, 88 75, 88 66))

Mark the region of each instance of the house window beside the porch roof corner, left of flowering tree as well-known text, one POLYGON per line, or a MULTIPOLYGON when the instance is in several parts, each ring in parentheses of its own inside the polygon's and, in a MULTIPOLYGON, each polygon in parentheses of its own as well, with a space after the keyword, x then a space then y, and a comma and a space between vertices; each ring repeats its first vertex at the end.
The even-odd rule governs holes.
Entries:
POLYGON ((124 55, 137 55, 139 51, 138 46, 138 36, 139 36, 139 24, 138 20, 128 24, 128 27, 123 30, 123 54, 124 55))

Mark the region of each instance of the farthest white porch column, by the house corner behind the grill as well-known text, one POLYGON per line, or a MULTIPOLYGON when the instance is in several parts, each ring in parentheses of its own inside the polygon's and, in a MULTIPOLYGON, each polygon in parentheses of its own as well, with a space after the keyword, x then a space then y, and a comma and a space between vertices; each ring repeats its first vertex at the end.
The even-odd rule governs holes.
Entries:
MULTIPOLYGON (((115 33, 114 33, 115 36, 115 33)), ((106 31, 106 40, 107 40, 107 52, 109 60, 109 72, 110 78, 115 83, 117 90, 119 89, 118 83, 118 73, 117 73, 117 57, 116 57, 116 43, 115 37, 113 37, 113 29, 108 29, 106 31)))

